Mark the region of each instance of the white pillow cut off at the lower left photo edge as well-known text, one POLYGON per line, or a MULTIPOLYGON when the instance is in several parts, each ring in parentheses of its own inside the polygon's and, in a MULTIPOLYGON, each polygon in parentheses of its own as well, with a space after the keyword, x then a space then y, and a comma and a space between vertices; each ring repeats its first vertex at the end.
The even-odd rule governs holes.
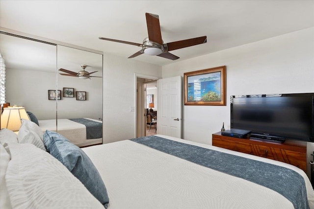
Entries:
MULTIPOLYGON (((2 135, 1 135, 2 136, 2 135)), ((5 183, 5 172, 10 161, 10 155, 0 144, 0 209, 11 209, 8 189, 5 183)))

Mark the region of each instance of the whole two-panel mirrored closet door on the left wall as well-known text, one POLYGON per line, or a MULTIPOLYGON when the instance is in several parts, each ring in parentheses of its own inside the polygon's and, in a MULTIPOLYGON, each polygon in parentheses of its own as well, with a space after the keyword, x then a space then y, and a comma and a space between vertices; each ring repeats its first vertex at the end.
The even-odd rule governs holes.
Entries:
POLYGON ((6 102, 33 113, 43 131, 58 132, 83 147, 103 142, 103 54, 81 49, 0 34, 0 52, 6 65, 6 102), (78 72, 81 65, 87 66, 86 71, 97 71, 93 75, 99 77, 80 79, 59 74, 60 68, 78 72), (64 97, 63 88, 73 88, 74 96, 64 97), (48 90, 60 90, 61 99, 49 99, 48 90), (76 92, 86 92, 86 100, 77 100, 76 92), (86 118, 101 133, 88 137, 86 126, 71 118, 86 118))

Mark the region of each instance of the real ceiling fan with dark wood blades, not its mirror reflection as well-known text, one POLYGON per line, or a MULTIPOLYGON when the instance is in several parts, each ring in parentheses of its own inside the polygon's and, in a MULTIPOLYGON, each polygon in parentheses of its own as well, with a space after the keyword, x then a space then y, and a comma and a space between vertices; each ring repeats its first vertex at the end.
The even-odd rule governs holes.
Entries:
POLYGON ((180 57, 174 54, 171 54, 168 51, 172 51, 172 50, 176 50, 176 49, 184 48, 188 46, 204 44, 207 42, 207 36, 202 36, 202 37, 185 39, 182 41, 176 41, 176 42, 164 44, 161 39, 161 30, 160 30, 158 15, 154 15, 150 13, 145 13, 145 14, 146 14, 148 38, 145 38, 143 40, 143 44, 120 41, 120 40, 115 40, 115 39, 108 39, 108 38, 103 38, 103 37, 99 37, 99 39, 142 47, 141 50, 132 54, 129 58, 133 58, 133 57, 136 57, 138 55, 145 53, 149 55, 157 55, 159 57, 163 57, 163 58, 167 58, 171 60, 176 60, 176 59, 179 59, 180 57))

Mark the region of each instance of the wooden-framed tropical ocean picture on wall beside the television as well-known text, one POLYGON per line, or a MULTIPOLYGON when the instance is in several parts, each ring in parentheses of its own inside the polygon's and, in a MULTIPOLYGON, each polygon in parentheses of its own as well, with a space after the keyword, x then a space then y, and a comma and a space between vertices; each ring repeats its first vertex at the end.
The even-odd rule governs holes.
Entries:
POLYGON ((184 105, 226 106, 226 66, 185 72, 184 105))

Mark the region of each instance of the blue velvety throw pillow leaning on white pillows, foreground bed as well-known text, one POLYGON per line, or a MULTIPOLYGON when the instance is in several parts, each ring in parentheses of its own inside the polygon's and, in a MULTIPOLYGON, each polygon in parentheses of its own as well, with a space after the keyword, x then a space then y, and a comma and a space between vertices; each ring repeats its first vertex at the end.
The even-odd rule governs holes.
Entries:
POLYGON ((107 208, 109 198, 105 184, 95 165, 76 145, 62 135, 46 131, 44 144, 47 151, 71 171, 81 183, 107 208))

